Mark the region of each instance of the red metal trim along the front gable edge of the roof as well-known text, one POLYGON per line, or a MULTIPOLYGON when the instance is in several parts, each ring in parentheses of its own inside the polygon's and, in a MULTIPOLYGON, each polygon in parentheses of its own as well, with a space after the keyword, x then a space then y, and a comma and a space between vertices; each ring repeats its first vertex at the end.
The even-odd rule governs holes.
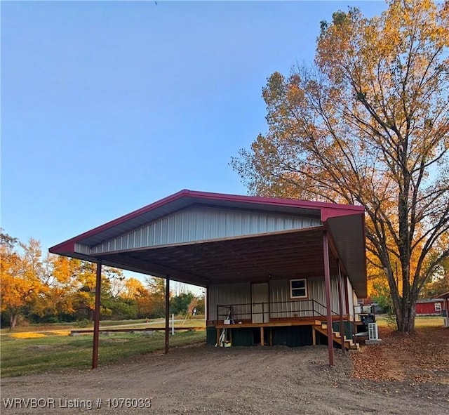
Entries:
POLYGON ((170 202, 174 202, 177 199, 181 199, 182 197, 192 197, 197 199, 209 199, 209 200, 217 200, 222 202, 243 202, 250 204, 266 204, 271 206, 283 206, 283 207, 297 207, 304 209, 316 209, 321 211, 321 220, 324 222, 328 218, 333 218, 336 216, 348 216, 353 214, 361 214, 364 213, 365 209, 363 206, 354 206, 354 205, 346 205, 346 204, 330 204, 325 202, 309 202, 305 200, 298 199, 277 199, 272 197, 259 197, 259 196, 242 196, 242 195, 227 195, 222 193, 211 193, 211 192, 198 192, 194 190, 180 190, 173 195, 165 197, 163 199, 158 200, 152 204, 144 206, 136 211, 127 213, 126 215, 120 216, 114 220, 111 220, 103 225, 98 226, 97 228, 93 228, 88 230, 87 232, 83 232, 81 235, 68 239, 65 242, 61 242, 55 246, 52 246, 49 251, 51 253, 67 253, 70 251, 74 251, 74 244, 76 242, 81 241, 87 237, 91 237, 99 232, 112 228, 113 226, 119 225, 120 223, 126 222, 126 220, 130 220, 139 216, 143 213, 147 213, 154 209, 157 209, 161 206, 169 204, 170 202))

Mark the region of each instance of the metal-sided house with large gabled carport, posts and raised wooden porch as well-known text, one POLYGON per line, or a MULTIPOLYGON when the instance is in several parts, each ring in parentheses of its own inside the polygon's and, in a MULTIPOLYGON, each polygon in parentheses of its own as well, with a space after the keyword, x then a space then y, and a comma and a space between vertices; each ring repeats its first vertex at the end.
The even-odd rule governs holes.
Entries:
POLYGON ((93 367, 102 265, 205 287, 210 345, 327 343, 330 364, 366 297, 361 206, 182 190, 50 252, 98 265, 93 367))

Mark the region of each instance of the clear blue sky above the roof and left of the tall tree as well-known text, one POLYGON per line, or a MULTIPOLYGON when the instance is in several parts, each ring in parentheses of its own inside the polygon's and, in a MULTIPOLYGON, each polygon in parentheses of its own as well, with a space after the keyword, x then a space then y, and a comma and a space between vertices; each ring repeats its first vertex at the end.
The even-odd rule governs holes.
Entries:
POLYGON ((1 227, 43 251, 181 189, 246 194, 262 87, 383 1, 1 1, 1 227))

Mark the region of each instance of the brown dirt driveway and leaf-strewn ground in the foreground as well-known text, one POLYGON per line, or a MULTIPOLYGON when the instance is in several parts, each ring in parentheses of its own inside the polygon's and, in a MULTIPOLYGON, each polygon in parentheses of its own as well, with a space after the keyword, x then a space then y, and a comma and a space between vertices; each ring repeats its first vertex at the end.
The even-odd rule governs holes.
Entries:
POLYGON ((95 371, 4 378, 1 413, 449 414, 449 329, 417 337, 382 330, 383 345, 335 350, 332 368, 326 346, 198 345, 95 371), (423 339, 417 357, 413 345, 423 339), (11 398, 24 400, 6 408, 11 398), (25 408, 28 398, 40 407, 25 408))

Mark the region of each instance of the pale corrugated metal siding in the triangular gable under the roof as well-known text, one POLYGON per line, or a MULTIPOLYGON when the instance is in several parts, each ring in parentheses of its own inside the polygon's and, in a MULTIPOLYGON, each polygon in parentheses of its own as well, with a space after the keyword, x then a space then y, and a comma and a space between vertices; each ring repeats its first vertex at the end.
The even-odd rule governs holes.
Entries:
POLYGON ((257 235, 321 225, 317 218, 195 206, 103 242, 91 254, 257 235))

